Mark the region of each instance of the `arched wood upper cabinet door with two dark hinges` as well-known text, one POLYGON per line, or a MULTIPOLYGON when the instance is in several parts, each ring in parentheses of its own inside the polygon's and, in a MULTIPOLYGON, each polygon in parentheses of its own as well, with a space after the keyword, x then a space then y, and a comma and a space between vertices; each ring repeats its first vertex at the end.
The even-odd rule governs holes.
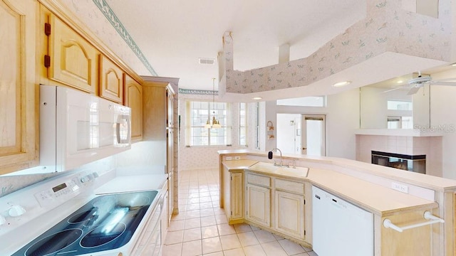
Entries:
POLYGON ((45 57, 49 79, 96 93, 98 51, 53 14, 49 24, 45 29, 49 37, 49 55, 45 57))

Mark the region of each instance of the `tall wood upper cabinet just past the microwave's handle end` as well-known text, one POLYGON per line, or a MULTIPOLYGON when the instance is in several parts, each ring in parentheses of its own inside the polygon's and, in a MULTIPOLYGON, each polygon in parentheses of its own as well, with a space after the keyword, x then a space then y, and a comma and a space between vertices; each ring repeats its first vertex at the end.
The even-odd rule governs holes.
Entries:
POLYGON ((129 75, 124 74, 125 106, 131 108, 131 139, 142 139, 142 86, 129 75))

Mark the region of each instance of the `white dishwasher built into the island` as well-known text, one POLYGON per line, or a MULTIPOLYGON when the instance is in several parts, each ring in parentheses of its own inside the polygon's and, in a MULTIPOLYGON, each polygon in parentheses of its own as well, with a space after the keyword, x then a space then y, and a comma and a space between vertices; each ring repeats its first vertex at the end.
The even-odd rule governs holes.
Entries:
POLYGON ((318 256, 373 255, 373 213, 312 186, 312 241, 318 256))

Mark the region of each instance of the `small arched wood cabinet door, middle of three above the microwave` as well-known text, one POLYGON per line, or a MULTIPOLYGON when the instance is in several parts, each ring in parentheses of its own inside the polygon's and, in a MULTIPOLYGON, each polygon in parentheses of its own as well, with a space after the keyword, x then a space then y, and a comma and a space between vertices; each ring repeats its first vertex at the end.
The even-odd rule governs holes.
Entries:
POLYGON ((100 55, 100 97, 123 103, 123 72, 110 59, 100 55))

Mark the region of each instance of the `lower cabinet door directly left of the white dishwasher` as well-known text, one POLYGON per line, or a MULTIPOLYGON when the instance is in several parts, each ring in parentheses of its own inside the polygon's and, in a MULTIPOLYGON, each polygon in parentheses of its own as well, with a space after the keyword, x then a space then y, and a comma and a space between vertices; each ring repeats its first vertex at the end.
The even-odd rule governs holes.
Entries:
POLYGON ((274 228, 294 238, 304 239, 304 195, 275 191, 274 228))

